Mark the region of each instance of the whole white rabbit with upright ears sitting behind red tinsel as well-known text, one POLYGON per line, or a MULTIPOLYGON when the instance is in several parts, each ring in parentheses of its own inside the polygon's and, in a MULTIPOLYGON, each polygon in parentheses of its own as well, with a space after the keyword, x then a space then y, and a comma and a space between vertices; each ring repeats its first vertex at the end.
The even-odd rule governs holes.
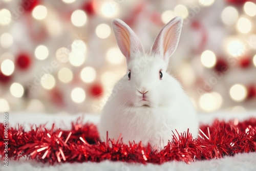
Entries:
POLYGON ((124 143, 150 143, 163 148, 173 132, 189 132, 197 137, 199 123, 193 104, 180 83, 166 69, 168 59, 177 48, 182 18, 166 24, 146 54, 133 30, 122 20, 114 19, 112 27, 117 44, 126 57, 127 74, 113 88, 102 109, 99 134, 102 140, 124 143), (173 131, 173 132, 172 132, 173 131))

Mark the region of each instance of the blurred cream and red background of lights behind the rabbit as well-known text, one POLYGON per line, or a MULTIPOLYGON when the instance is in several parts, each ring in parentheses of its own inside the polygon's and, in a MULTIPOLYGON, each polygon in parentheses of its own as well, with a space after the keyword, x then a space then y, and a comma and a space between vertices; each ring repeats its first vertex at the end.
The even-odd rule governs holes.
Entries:
POLYGON ((256 109, 256 5, 246 0, 0 0, 0 112, 98 114, 126 73, 111 28, 146 51, 184 19, 170 73, 201 112, 256 109))

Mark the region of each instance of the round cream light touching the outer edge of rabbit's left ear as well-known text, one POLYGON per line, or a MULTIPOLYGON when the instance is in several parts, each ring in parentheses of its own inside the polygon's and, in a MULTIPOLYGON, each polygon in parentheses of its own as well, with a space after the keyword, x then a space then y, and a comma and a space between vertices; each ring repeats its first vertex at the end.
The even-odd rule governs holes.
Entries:
POLYGON ((119 48, 111 48, 106 52, 106 60, 114 65, 118 65, 123 62, 124 57, 119 48))

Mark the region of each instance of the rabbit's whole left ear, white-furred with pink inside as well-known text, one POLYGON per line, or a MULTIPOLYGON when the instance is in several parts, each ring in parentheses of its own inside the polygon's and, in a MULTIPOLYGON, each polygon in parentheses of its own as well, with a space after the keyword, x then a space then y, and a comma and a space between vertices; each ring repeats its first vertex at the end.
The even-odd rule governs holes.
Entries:
POLYGON ((113 19, 112 27, 118 47, 126 57, 127 62, 137 54, 141 55, 144 53, 141 42, 136 34, 121 19, 113 19))

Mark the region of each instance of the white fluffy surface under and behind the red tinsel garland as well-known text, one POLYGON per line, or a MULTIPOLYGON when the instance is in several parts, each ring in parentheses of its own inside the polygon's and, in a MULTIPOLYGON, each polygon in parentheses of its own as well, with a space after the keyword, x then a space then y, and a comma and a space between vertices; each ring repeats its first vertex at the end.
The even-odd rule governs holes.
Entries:
MULTIPOLYGON (((63 114, 29 114, 29 113, 11 113, 9 114, 9 127, 15 126, 17 123, 24 124, 29 130, 30 123, 40 124, 48 122, 46 127, 51 127, 55 122, 58 127, 63 129, 69 129, 70 123, 75 121, 78 115, 63 115, 63 114)), ((215 118, 220 120, 229 120, 232 118, 238 118, 240 120, 247 119, 249 117, 256 117, 256 111, 250 111, 243 114, 230 114, 227 112, 219 112, 215 114, 199 114, 199 120, 201 123, 210 123, 215 118)), ((1 118, 4 118, 3 116, 1 118)), ((84 122, 97 123, 98 116, 85 115, 84 122)), ((3 122, 3 120, 0 120, 3 122)), ((209 161, 196 161, 190 164, 184 162, 166 162, 164 164, 135 164, 125 162, 111 162, 103 161, 100 163, 84 162, 84 163, 60 163, 53 166, 49 164, 43 164, 40 162, 21 159, 19 161, 9 160, 8 167, 4 166, 3 161, 0 165, 0 170, 28 170, 28 171, 51 171, 51 170, 256 170, 255 163, 256 153, 238 154, 234 157, 225 157, 223 159, 214 159, 209 161)))

